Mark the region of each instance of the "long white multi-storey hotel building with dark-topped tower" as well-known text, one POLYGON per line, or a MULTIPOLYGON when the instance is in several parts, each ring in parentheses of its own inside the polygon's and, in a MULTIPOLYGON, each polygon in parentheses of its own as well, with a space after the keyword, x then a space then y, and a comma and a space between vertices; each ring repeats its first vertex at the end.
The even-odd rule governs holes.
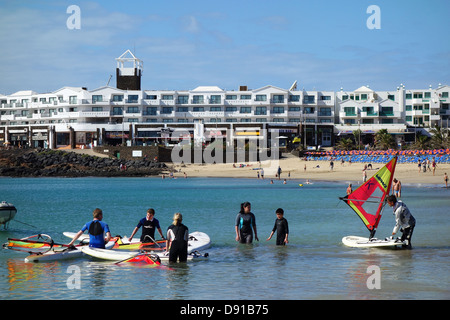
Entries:
POLYGON ((450 116, 449 86, 407 90, 401 85, 383 92, 366 86, 339 92, 297 90, 296 83, 290 89, 145 90, 140 88, 142 61, 129 50, 116 60, 116 87, 0 94, 0 145, 176 143, 170 133, 177 130, 203 140, 230 132, 270 139, 271 132, 279 130, 281 145, 301 136, 305 146, 329 147, 336 136, 357 129, 369 137, 387 128, 408 141, 415 126, 446 127, 450 116))

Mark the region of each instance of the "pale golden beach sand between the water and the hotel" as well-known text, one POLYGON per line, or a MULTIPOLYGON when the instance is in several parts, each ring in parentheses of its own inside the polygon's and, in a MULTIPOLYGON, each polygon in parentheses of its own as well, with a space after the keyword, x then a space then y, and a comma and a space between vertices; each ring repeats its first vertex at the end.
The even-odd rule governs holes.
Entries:
MULTIPOLYGON (((259 170, 264 169, 264 178, 266 180, 278 179, 276 170, 281 167, 281 180, 283 179, 309 179, 310 181, 345 181, 348 183, 361 183, 363 179, 363 169, 365 163, 346 162, 341 165, 334 161, 334 168, 331 170, 330 161, 305 161, 294 156, 283 157, 278 161, 248 162, 242 163, 240 167, 236 164, 233 167, 231 163, 224 164, 171 164, 177 172, 174 177, 183 178, 184 173, 187 177, 227 177, 227 178, 257 178, 259 170), (304 169, 306 165, 306 170, 304 169), (319 166, 319 167, 317 167, 319 166), (290 172, 290 177, 288 173, 290 172)), ((370 178, 383 166, 382 163, 372 163, 373 169, 367 170, 367 178, 370 178)), ((416 163, 397 163, 394 177, 400 180, 402 184, 436 184, 445 186, 444 172, 450 175, 450 164, 437 164, 435 174, 432 171, 420 172, 416 163)))

